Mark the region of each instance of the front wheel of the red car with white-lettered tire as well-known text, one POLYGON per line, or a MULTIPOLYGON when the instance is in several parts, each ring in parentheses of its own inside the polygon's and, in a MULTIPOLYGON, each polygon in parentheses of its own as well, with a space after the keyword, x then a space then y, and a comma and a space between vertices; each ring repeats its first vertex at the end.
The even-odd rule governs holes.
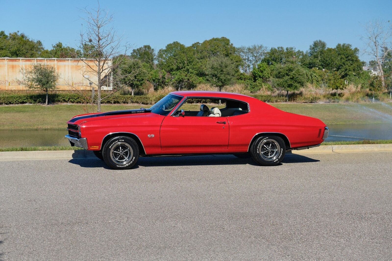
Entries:
POLYGON ((103 145, 102 156, 112 169, 131 169, 138 161, 139 147, 134 139, 118 136, 103 145))

